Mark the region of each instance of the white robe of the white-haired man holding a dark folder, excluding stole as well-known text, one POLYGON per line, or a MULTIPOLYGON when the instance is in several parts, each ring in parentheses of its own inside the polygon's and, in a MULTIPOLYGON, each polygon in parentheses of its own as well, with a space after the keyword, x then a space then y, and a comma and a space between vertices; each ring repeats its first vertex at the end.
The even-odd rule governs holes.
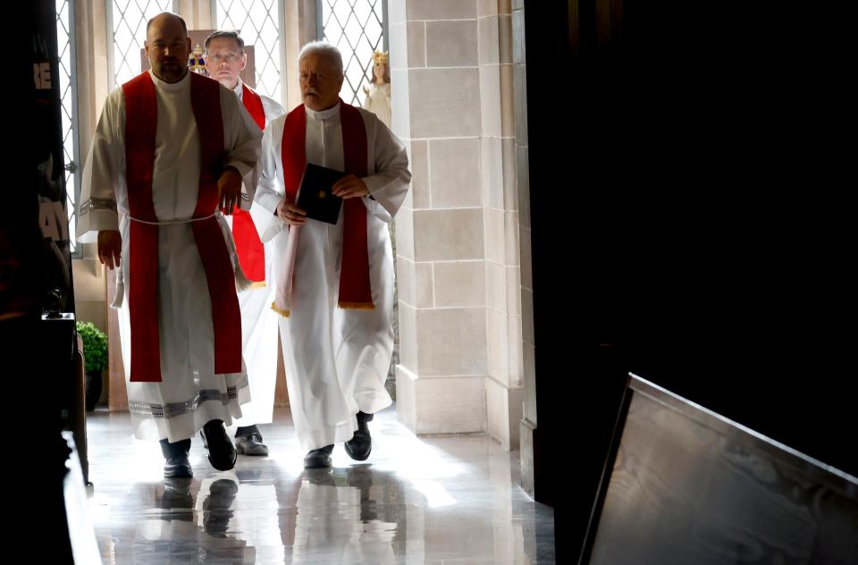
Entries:
MULTIPOLYGON (((373 198, 363 197, 369 275, 374 309, 339 308, 343 213, 336 224, 307 220, 300 227, 290 316, 280 318, 283 360, 292 419, 301 447, 318 449, 351 439, 358 410, 374 413, 391 404, 384 381, 393 350, 393 257, 389 223, 408 192, 406 148, 378 118, 360 110, 366 127, 367 176, 373 198)), ((263 137, 256 204, 271 215, 274 277, 280 274, 290 230, 273 215, 285 194, 282 135, 286 116, 263 137)), ((307 163, 344 170, 340 105, 323 112, 307 108, 307 163)))

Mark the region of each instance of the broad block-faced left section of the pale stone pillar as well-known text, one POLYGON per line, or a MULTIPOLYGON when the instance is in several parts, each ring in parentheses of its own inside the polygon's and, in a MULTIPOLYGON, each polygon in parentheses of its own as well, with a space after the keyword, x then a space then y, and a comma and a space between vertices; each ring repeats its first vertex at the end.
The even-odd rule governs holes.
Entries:
POLYGON ((390 4, 394 132, 412 188, 397 216, 397 411, 417 434, 484 432, 487 374, 475 0, 390 4))

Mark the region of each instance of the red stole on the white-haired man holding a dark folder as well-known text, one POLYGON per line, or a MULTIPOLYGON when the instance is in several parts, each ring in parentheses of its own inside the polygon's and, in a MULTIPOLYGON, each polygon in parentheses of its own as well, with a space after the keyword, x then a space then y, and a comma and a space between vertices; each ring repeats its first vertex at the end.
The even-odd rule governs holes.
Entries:
MULTIPOLYGON (((340 100, 342 151, 346 173, 366 177, 366 126, 360 112, 340 100)), ((295 202, 301 176, 307 166, 307 112, 299 105, 283 124, 282 163, 286 198, 295 202)), ((342 263, 340 267, 340 308, 372 309, 369 282, 369 251, 366 240, 366 207, 361 198, 343 200, 342 263)))

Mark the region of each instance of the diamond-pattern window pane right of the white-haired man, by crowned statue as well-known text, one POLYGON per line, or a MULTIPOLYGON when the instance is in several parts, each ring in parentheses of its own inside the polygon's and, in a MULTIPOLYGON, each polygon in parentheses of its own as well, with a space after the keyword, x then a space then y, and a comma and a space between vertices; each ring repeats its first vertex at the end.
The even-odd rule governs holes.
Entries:
POLYGON ((324 40, 342 53, 346 80, 340 97, 363 105, 363 89, 373 77, 373 51, 384 46, 384 0, 319 0, 324 40))

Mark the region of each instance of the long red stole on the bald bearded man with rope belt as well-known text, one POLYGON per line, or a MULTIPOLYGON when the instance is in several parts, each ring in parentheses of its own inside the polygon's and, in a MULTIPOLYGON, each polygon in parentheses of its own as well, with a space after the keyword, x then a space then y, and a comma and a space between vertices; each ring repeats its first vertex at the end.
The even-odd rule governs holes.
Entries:
MULTIPOLYGON (((218 82, 190 72, 190 103, 201 145, 195 218, 211 216, 218 205, 217 179, 223 173, 224 157, 219 89, 218 82)), ((155 83, 148 72, 143 72, 123 84, 122 92, 125 95, 126 181, 132 218, 129 235, 130 380, 160 383, 158 226, 154 224, 158 218, 152 202, 158 122, 155 83)), ((192 222, 191 226, 212 300, 214 373, 240 373, 241 315, 223 232, 214 216, 192 222)))

